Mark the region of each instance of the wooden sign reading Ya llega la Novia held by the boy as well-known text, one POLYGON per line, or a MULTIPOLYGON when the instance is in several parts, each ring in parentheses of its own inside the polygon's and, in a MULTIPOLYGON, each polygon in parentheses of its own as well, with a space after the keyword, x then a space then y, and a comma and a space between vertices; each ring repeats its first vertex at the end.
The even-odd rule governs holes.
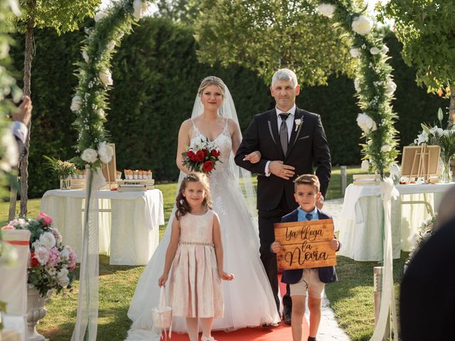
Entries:
POLYGON ((284 270, 319 268, 336 265, 336 251, 330 247, 334 238, 333 220, 279 222, 274 224, 275 240, 282 244, 277 254, 284 270))

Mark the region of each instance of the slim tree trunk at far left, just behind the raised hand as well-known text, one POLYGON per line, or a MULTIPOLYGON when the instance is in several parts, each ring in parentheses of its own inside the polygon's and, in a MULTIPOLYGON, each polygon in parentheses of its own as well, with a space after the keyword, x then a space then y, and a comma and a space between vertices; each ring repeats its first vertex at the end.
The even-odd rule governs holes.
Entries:
MULTIPOLYGON (((35 9, 36 0, 28 2, 30 7, 30 17, 27 21, 26 31, 26 52, 23 61, 23 94, 31 95, 31 61, 33 59, 33 26, 35 26, 35 9)), ((21 162, 21 217, 27 216, 28 201, 28 150, 30 148, 31 122, 28 124, 28 135, 26 139, 26 155, 21 162)))

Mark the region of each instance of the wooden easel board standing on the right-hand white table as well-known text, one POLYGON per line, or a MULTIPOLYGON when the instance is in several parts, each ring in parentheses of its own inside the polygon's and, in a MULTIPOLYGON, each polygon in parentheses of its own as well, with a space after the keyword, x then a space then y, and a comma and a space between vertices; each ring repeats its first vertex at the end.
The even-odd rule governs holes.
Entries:
POLYGON ((441 147, 439 146, 407 146, 403 148, 401 176, 407 177, 407 184, 416 178, 424 178, 429 182, 430 176, 437 175, 441 147))

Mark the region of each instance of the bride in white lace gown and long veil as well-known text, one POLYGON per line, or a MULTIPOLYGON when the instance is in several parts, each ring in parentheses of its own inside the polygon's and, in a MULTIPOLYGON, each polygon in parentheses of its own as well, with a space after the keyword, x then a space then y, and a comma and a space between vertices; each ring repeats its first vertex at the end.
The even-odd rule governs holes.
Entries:
MULTIPOLYGON (((237 330, 264 323, 278 323, 277 305, 259 258, 257 224, 252 222, 239 185, 244 185, 248 207, 253 212, 251 176, 245 170, 239 170, 233 162, 233 155, 242 139, 237 114, 228 88, 218 77, 206 77, 202 81, 191 119, 184 121, 178 132, 176 162, 181 169, 179 183, 189 173, 182 165, 182 153, 186 151, 186 146, 194 146, 200 139, 213 141, 221 152, 221 162, 215 165, 216 169, 210 174, 210 195, 213 210, 220 217, 225 269, 235 275, 234 281, 223 283, 224 318, 213 321, 213 330, 237 330)), ((258 162, 259 158, 259 152, 248 156, 253 163, 258 162)), ((151 309, 159 303, 158 278, 163 272, 173 217, 172 213, 164 237, 137 283, 128 310, 133 325, 127 340, 139 340, 134 335, 140 335, 141 332, 144 335, 145 330, 153 328, 151 309)), ((174 318, 173 330, 186 332, 183 318, 174 318)))

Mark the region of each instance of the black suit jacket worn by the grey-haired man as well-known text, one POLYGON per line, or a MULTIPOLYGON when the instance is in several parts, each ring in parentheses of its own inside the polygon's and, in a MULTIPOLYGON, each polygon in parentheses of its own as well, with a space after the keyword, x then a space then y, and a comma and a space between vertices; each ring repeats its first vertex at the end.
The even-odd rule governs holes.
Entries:
POLYGON ((238 166, 259 175, 257 177, 257 208, 259 210, 274 210, 279 205, 283 194, 286 196, 289 207, 297 207, 292 180, 302 174, 314 173, 314 163, 317 167, 316 175, 321 183, 321 193, 324 196, 326 196, 331 177, 330 151, 321 117, 318 114, 296 109, 287 155, 283 154, 278 131, 275 109, 255 115, 247 131, 243 134, 242 144, 235 155, 235 163, 238 166), (297 129, 296 119, 302 120, 302 124, 297 126, 297 129), (243 158, 253 151, 261 152, 262 158, 259 163, 243 161, 243 158), (264 170, 267 161, 283 161, 284 164, 294 166, 296 168, 294 177, 284 180, 273 174, 265 176, 264 170))

